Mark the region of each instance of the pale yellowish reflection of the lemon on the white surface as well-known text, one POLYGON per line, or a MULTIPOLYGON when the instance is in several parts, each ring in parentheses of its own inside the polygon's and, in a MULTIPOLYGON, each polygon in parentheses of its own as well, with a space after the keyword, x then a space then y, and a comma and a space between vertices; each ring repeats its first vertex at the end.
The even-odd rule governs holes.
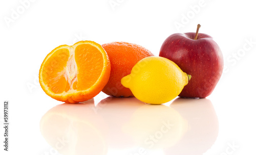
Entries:
POLYGON ((125 125, 137 145, 145 149, 169 148, 188 130, 187 120, 178 111, 164 105, 144 105, 125 125))

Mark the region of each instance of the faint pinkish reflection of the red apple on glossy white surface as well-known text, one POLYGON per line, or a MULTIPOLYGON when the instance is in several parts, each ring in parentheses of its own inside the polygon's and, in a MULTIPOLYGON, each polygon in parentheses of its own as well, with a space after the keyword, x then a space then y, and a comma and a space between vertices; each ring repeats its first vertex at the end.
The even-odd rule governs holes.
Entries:
POLYGON ((215 143, 219 122, 209 99, 177 98, 170 104, 185 120, 188 130, 166 154, 203 154, 215 143))

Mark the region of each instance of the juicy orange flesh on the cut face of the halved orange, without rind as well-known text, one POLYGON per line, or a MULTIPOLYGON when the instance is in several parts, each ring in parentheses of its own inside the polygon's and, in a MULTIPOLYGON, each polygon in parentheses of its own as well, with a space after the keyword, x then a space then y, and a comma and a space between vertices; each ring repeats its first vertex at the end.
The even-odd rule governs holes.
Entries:
POLYGON ((52 92, 59 94, 93 86, 103 69, 103 58, 96 47, 81 44, 75 51, 67 48, 56 50, 44 66, 44 83, 52 92))

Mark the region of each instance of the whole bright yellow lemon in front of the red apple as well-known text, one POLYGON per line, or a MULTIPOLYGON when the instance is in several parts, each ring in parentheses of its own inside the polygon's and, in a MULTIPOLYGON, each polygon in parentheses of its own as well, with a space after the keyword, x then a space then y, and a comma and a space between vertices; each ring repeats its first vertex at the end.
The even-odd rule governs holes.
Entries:
POLYGON ((164 104, 180 94, 190 77, 173 61, 146 57, 121 79, 121 84, 147 104, 164 104))

